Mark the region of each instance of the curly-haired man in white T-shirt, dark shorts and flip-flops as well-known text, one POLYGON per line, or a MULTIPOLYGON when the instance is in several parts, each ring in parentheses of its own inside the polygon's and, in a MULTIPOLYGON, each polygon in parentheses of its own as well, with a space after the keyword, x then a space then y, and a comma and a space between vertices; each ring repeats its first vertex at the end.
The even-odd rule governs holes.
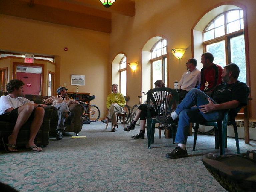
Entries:
POLYGON ((35 145, 34 140, 42 125, 46 105, 36 104, 34 101, 22 97, 23 85, 24 83, 18 79, 10 80, 6 85, 8 95, 0 97, 0 120, 16 122, 12 134, 2 137, 3 146, 7 152, 17 151, 18 133, 27 120, 32 120, 32 123, 26 148, 37 152, 42 151, 42 148, 35 145))

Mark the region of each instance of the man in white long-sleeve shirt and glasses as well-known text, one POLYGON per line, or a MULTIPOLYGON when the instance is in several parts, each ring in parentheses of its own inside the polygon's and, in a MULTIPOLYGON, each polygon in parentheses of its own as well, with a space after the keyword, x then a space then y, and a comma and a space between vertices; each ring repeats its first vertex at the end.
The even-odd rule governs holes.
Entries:
POLYGON ((196 85, 200 84, 201 73, 196 68, 197 61, 194 58, 191 58, 187 61, 187 72, 183 73, 181 80, 179 81, 179 100, 181 101, 186 94, 194 88, 196 85))

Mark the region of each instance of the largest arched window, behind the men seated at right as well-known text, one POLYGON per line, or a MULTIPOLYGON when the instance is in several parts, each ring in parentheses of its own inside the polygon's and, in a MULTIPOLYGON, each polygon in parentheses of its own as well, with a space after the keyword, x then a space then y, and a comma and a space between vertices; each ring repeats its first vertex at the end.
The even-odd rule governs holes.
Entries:
POLYGON ((246 83, 244 19, 242 9, 219 14, 203 31, 204 52, 214 56, 214 63, 224 67, 235 63, 240 68, 238 80, 246 83))

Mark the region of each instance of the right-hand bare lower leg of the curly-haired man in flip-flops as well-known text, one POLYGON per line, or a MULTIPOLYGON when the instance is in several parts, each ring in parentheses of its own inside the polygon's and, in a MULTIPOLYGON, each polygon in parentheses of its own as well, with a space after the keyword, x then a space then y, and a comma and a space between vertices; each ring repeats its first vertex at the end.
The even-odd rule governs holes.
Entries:
MULTIPOLYGON (((31 123, 31 127, 30 127, 29 141, 26 146, 27 148, 35 145, 34 140, 35 140, 36 134, 38 133, 38 131, 43 123, 43 119, 44 119, 44 108, 37 107, 35 109, 34 119, 31 123)), ((37 147, 37 148, 34 148, 33 150, 41 151, 42 148, 37 147)))

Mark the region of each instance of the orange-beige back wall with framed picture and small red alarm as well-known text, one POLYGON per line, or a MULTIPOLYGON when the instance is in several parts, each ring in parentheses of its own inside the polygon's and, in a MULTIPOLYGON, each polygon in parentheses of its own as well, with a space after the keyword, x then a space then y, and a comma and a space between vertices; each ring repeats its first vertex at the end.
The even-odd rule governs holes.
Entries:
POLYGON ((55 56, 56 87, 66 83, 68 91, 76 92, 71 74, 85 75, 85 86, 78 91, 95 95, 92 103, 101 111, 106 108, 110 92, 108 33, 0 15, 0 34, 0 50, 55 56))

